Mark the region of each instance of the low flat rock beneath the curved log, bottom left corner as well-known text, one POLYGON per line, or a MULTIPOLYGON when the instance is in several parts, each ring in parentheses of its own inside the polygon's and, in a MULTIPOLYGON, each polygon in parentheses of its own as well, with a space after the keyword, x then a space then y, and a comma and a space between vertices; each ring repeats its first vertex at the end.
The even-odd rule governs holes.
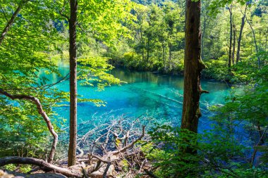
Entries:
POLYGON ((67 178, 61 174, 54 173, 37 173, 37 174, 24 174, 13 171, 0 170, 0 178, 67 178))

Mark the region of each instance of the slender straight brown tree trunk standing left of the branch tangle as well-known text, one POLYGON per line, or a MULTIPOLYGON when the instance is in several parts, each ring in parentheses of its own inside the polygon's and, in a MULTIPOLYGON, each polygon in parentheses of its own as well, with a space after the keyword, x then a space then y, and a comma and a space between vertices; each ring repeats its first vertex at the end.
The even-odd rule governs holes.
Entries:
POLYGON ((76 23, 77 23, 77 0, 70 0, 71 15, 69 20, 70 33, 70 141, 68 149, 68 166, 76 163, 77 142, 77 61, 76 61, 76 23))

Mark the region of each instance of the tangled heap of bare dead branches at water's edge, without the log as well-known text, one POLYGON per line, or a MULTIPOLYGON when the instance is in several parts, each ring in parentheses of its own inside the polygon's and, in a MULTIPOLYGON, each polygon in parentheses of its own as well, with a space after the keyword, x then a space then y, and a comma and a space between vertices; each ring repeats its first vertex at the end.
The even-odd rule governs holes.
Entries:
POLYGON ((140 151, 139 141, 149 137, 143 120, 146 119, 142 116, 131 119, 121 115, 79 137, 78 146, 88 156, 88 160, 81 160, 92 165, 86 169, 89 177, 116 177, 119 174, 135 177, 144 172, 147 160, 140 151))

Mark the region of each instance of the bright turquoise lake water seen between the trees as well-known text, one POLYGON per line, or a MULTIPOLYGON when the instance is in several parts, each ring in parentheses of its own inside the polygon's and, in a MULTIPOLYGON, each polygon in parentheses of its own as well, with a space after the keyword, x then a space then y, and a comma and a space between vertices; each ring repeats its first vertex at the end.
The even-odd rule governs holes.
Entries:
MULTIPOLYGON (((59 70, 63 76, 69 72, 68 65, 59 64, 59 70)), ((181 124, 183 102, 183 77, 175 75, 163 75, 157 72, 135 72, 116 68, 111 71, 115 77, 127 82, 121 86, 107 87, 104 91, 97 91, 94 87, 78 85, 78 94, 83 98, 98 98, 106 102, 106 106, 97 107, 90 102, 78 103, 78 123, 90 120, 92 115, 128 114, 130 117, 140 115, 152 115, 157 120, 170 122, 171 125, 181 124)), ((44 73, 39 73, 44 75, 44 73)), ((49 83, 61 79, 56 75, 49 75, 49 83)), ((62 91, 69 91, 69 82, 61 82, 56 87, 62 91)), ((202 94, 200 108, 202 117, 199 122, 199 130, 209 127, 209 106, 224 103, 224 97, 229 94, 229 87, 225 83, 212 80, 202 80, 202 89, 209 94, 202 94)), ((67 103, 68 104, 68 103, 67 103)), ((54 108, 59 117, 66 118, 68 125, 69 107, 54 108)))

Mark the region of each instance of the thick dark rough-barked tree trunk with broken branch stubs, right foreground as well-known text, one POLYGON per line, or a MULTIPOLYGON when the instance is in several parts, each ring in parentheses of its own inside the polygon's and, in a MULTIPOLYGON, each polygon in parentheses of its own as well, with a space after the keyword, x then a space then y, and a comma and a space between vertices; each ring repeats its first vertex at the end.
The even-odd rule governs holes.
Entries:
MULTIPOLYGON (((200 6, 201 2, 187 0, 185 19, 185 57, 183 116, 181 129, 197 133, 198 120, 201 116, 199 101, 202 94, 200 75, 205 68, 200 58, 200 6)), ((186 151, 193 152, 193 151, 186 151)))

